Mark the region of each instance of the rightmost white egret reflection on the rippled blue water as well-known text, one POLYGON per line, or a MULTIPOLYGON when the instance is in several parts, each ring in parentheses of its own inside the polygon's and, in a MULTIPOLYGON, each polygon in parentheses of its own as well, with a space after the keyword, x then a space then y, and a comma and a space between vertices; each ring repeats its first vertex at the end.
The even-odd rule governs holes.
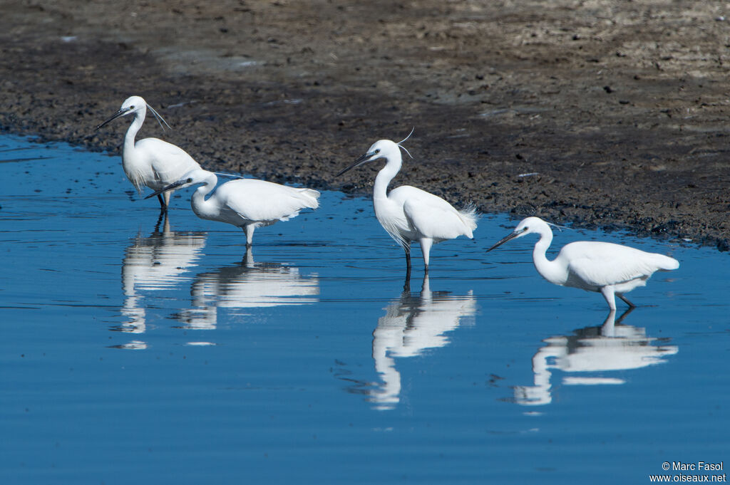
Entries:
POLYGON ((532 357, 533 386, 516 386, 515 402, 524 406, 550 404, 553 400, 550 377, 553 369, 565 373, 582 373, 566 376, 564 385, 623 384, 623 379, 586 376, 612 370, 630 370, 666 362, 664 357, 678 352, 677 346, 653 345, 656 338, 648 337, 646 330, 621 321, 631 313, 627 310, 618 322, 615 310, 610 311, 601 327, 585 327, 574 330, 573 335, 546 338, 537 354, 532 357))

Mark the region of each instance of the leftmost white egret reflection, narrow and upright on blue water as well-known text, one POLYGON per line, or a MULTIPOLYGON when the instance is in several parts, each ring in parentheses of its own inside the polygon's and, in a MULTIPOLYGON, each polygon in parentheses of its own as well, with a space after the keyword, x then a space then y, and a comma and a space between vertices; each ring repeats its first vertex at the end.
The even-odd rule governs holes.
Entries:
MULTIPOLYGON (((196 261, 205 246, 206 233, 174 232, 165 214, 155 225, 153 233, 134 238, 124 252, 122 262, 122 289, 124 306, 121 313, 126 317, 118 330, 128 333, 144 333, 147 315, 143 300, 147 292, 170 290, 180 282, 196 261), (160 226, 162 225, 162 228, 160 226)), ((141 348, 144 342, 137 342, 141 348)))

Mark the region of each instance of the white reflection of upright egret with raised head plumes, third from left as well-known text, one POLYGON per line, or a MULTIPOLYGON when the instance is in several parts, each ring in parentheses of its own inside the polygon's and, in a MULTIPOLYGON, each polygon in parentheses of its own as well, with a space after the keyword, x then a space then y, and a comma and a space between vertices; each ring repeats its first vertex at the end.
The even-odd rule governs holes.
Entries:
POLYGON ((431 292, 429 277, 425 276, 420 295, 413 296, 406 284, 401 298, 385 308, 385 316, 378 319, 372 333, 372 358, 383 380, 369 389, 374 408, 393 409, 400 401, 401 374, 396 370, 396 357, 414 357, 446 346, 449 339, 444 334, 456 330, 476 311, 471 290, 463 296, 431 292))

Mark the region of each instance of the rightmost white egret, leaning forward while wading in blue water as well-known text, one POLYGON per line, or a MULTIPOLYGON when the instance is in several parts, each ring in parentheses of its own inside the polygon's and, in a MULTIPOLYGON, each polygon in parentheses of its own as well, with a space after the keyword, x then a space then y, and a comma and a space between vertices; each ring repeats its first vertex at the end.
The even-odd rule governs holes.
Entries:
POLYGON ((510 239, 533 233, 540 236, 532 252, 532 260, 540 276, 560 286, 600 292, 612 311, 616 309, 614 295, 633 308, 634 303, 627 300, 624 293, 645 286, 655 271, 671 271, 680 267, 679 261, 673 257, 598 241, 566 244, 558 257, 550 261, 545 252, 553 241, 553 231, 548 222, 539 217, 522 220, 509 236, 487 251, 510 239))

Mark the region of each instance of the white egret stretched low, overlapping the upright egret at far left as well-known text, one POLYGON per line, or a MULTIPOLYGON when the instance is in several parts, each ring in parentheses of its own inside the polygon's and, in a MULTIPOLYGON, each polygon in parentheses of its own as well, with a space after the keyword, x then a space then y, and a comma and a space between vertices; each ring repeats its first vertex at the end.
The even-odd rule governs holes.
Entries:
POLYGON ((191 198, 191 206, 201 219, 227 222, 242 228, 246 234, 246 247, 251 247, 253 230, 277 221, 290 220, 301 209, 317 209, 320 193, 312 189, 299 189, 256 179, 236 179, 218 184, 214 173, 201 168, 189 171, 180 180, 157 192, 150 198, 169 190, 201 185, 191 198), (205 198, 215 189, 209 198, 205 198))

